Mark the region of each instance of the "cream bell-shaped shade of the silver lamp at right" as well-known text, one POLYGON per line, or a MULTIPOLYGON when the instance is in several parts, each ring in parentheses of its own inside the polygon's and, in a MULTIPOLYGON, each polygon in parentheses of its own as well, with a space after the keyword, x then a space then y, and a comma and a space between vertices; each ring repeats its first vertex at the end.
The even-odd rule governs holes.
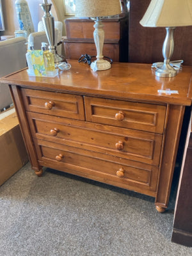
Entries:
POLYGON ((192 0, 152 0, 140 24, 144 27, 192 25, 192 0))

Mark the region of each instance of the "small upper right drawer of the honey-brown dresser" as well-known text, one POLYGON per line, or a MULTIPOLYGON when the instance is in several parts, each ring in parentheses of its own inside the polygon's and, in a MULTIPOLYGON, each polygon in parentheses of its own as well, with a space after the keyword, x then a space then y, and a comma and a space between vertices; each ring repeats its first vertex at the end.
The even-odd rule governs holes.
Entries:
POLYGON ((166 106, 84 97, 86 120, 141 131, 163 133, 166 106))

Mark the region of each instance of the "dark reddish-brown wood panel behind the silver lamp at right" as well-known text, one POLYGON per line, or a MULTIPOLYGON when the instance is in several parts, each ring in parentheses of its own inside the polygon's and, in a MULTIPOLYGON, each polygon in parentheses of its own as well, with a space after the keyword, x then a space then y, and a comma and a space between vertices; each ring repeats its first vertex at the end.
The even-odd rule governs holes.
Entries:
MULTIPOLYGON (((140 20, 148 8, 150 0, 131 0, 129 13, 129 61, 154 63, 163 61, 162 47, 166 36, 165 28, 145 28, 140 20)), ((175 29, 175 49, 172 60, 184 60, 184 65, 192 64, 192 26, 175 29)))

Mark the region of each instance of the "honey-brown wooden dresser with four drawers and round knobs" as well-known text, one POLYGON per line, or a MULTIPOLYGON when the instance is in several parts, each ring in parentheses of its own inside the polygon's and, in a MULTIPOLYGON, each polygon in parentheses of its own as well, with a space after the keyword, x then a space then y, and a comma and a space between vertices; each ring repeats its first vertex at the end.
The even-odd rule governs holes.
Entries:
POLYGON ((1 79, 10 84, 32 168, 37 175, 47 166, 154 196, 164 212, 191 106, 191 67, 157 79, 147 64, 113 63, 93 72, 69 63, 54 78, 22 70, 1 79))

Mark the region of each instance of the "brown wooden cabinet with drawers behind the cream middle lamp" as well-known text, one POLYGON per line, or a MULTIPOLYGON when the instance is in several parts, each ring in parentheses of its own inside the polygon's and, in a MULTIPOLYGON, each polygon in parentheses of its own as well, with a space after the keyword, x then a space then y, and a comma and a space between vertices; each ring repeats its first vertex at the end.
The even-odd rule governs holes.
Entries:
MULTIPOLYGON (((104 19, 105 41, 103 54, 113 61, 128 61, 128 15, 113 19, 104 19)), ((65 57, 79 60, 82 54, 96 56, 93 40, 94 22, 92 19, 71 18, 65 20, 66 38, 64 40, 65 57)))

